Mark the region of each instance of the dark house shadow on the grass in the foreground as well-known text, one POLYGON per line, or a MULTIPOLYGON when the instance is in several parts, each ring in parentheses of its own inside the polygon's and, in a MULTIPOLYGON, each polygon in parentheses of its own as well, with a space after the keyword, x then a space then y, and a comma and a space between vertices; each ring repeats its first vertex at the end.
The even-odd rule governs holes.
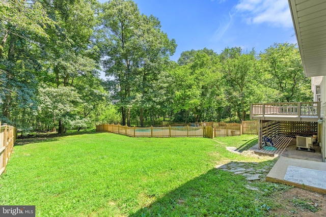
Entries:
MULTIPOLYGON (((246 162, 240 164, 242 168, 260 168, 273 163, 266 161, 259 164, 246 162)), ((224 169, 209 170, 129 216, 265 215, 267 210, 263 207, 264 202, 259 200, 264 192, 258 188, 259 184, 261 186, 269 183, 261 180, 248 181, 246 176, 226 171, 225 168, 231 167, 232 164, 234 166, 235 163, 223 165, 224 169)), ((153 194, 148 195, 148 198, 150 197, 153 197, 153 194)))

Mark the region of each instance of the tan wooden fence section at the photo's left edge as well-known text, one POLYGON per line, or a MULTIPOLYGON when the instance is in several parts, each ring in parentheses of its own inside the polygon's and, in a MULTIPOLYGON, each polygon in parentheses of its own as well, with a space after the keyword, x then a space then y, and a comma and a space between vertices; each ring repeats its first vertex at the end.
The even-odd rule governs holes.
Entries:
POLYGON ((6 166, 16 141, 16 128, 2 125, 0 128, 0 175, 6 172, 6 166))

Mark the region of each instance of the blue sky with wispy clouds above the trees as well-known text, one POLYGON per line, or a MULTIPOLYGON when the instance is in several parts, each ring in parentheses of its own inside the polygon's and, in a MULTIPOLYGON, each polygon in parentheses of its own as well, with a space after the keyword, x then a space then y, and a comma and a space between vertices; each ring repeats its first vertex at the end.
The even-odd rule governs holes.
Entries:
MULTIPOLYGON (((100 0, 99 2, 106 2, 100 0)), ((154 15, 182 51, 241 47, 257 52, 274 43, 296 43, 287 0, 134 0, 141 13, 154 15)))

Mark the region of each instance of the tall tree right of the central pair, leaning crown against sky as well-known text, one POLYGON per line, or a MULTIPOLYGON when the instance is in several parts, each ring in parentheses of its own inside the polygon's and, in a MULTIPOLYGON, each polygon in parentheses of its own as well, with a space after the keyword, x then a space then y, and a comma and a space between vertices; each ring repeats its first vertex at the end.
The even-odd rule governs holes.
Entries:
MULTIPOLYGON (((140 50, 140 69, 137 91, 140 92, 140 123, 144 127, 144 107, 151 108, 154 112, 157 104, 152 102, 154 83, 158 75, 168 64, 169 56, 175 52, 175 41, 169 40, 167 34, 161 32, 160 23, 157 18, 142 15, 141 32, 139 43, 142 45, 140 50)), ((154 115, 154 114, 153 114, 154 115)))

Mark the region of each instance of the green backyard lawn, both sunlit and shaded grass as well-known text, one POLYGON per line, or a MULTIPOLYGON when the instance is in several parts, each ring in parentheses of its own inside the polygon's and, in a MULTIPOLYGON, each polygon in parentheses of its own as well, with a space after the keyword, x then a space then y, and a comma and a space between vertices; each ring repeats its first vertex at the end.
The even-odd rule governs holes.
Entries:
MULTIPOLYGON (((278 206, 281 185, 252 183, 215 169, 230 161, 270 160, 234 154, 255 136, 129 138, 75 134, 15 146, 0 177, 0 204, 36 205, 37 216, 262 216, 278 206)), ((18 141, 19 142, 19 141, 18 141)))

